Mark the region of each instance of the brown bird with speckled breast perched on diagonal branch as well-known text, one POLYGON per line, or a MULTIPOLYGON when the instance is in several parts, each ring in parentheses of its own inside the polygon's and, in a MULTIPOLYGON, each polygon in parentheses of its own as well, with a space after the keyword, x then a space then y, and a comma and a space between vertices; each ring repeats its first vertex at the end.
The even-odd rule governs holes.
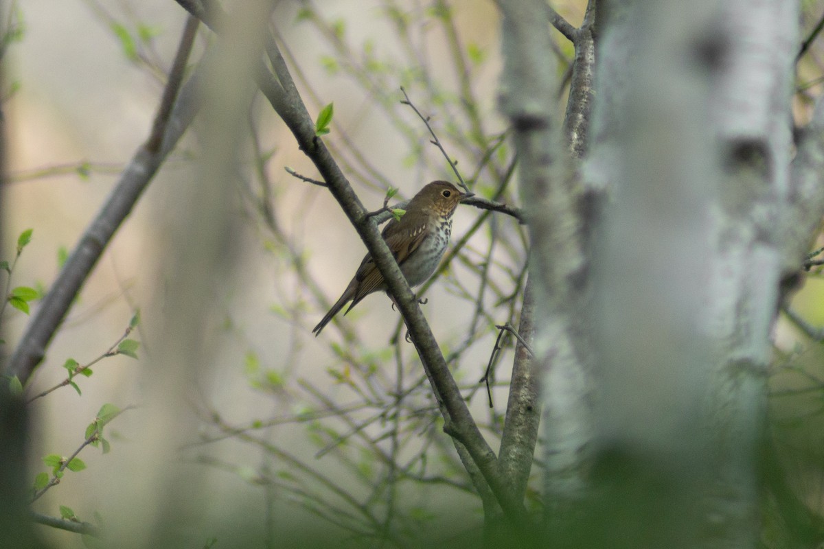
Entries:
MULTIPOLYGON (((452 234, 452 214, 461 200, 471 196, 474 194, 461 193, 447 181, 433 181, 412 197, 399 221, 393 219, 384 227, 381 236, 410 286, 423 284, 435 272, 452 234)), ((349 300, 352 300, 352 305, 344 314, 367 295, 382 290, 386 290, 383 275, 377 270, 372 255, 366 254, 344 294, 312 332, 316 336, 321 333, 349 300)))

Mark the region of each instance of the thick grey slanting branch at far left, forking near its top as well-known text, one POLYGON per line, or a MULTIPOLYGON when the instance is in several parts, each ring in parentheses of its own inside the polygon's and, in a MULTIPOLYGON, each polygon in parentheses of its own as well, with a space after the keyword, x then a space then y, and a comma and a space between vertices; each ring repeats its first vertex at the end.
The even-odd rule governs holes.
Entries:
POLYGON ((129 216, 143 190, 157 174, 166 156, 194 118, 197 111, 196 77, 190 78, 180 94, 180 100, 175 102, 175 98, 180 89, 185 62, 189 58, 197 26, 197 20, 190 18, 186 21, 175 65, 169 75, 169 81, 166 82, 157 117, 147 141, 138 147, 100 212, 87 226, 77 247, 63 265, 57 280, 26 327, 26 333, 23 334, 8 363, 7 375, 16 375, 23 384, 43 360, 46 347, 66 317, 91 269, 95 267, 103 250, 114 237, 115 231, 129 216))

